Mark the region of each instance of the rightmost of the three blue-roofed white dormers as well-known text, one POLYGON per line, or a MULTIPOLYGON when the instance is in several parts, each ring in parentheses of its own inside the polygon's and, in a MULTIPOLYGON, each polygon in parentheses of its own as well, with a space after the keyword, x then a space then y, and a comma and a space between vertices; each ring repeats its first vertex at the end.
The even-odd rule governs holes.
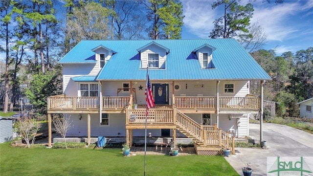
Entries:
POLYGON ((203 44, 202 46, 192 51, 198 56, 201 68, 214 68, 212 59, 213 51, 215 49, 215 47, 209 44, 203 44))

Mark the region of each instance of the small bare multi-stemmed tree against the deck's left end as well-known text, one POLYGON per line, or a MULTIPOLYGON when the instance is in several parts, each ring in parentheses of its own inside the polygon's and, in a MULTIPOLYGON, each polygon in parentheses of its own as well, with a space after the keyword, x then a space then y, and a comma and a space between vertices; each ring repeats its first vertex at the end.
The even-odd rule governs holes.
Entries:
POLYGON ((65 137, 67 135, 67 131, 73 127, 72 122, 73 121, 70 122, 70 117, 63 118, 63 120, 61 120, 60 118, 53 119, 53 124, 54 124, 53 130, 55 132, 60 133, 61 136, 64 138, 66 148, 67 148, 67 140, 65 137))

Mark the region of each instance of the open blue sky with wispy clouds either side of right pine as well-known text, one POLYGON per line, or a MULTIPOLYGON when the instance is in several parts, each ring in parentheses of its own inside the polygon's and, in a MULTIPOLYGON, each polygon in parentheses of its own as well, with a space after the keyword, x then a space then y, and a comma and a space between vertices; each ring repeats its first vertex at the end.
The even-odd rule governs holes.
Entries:
MULTIPOLYGON (((212 10, 215 0, 181 0, 183 5, 182 39, 208 39, 215 19, 224 9, 212 10)), ((258 22, 267 34, 264 49, 274 49, 277 55, 313 47, 313 0, 285 0, 283 4, 263 0, 241 0, 252 3, 251 23, 258 22)))

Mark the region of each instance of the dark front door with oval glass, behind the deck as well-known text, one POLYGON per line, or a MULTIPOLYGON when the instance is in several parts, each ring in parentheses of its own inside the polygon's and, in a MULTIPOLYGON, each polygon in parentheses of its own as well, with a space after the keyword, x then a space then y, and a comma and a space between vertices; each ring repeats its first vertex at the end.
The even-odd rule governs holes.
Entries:
POLYGON ((152 84, 155 104, 168 105, 168 84, 152 84))

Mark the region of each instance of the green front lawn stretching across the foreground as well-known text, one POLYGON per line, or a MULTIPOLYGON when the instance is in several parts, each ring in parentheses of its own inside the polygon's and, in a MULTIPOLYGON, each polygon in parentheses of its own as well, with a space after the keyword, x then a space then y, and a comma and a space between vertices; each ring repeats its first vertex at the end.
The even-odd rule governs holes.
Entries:
MULTIPOLYGON (((143 176, 144 155, 121 149, 13 148, 0 144, 1 176, 143 176)), ((147 155, 146 176, 238 176, 223 156, 147 155)))

